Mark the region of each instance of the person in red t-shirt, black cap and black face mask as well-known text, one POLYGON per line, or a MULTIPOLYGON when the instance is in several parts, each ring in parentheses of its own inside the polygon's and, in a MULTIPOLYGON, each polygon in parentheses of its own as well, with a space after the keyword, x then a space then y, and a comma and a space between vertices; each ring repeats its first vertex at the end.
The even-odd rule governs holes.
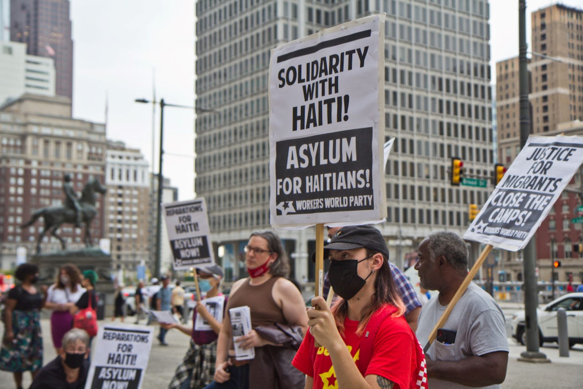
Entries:
POLYGON ((330 282, 342 298, 332 310, 322 297, 312 299, 319 310, 308 309, 310 331, 292 361, 307 375, 305 389, 427 389, 423 349, 403 317, 381 233, 342 227, 324 258, 331 260, 330 282))

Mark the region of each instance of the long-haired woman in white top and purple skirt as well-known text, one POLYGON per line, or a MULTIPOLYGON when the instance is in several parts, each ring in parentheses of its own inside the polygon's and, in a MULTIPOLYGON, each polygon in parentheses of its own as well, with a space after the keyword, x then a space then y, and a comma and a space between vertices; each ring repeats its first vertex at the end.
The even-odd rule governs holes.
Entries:
POLYGON ((63 335, 73 328, 73 316, 69 310, 85 293, 85 288, 80 284, 81 271, 79 268, 73 264, 65 264, 59 269, 55 283, 47 290, 44 309, 52 310, 52 344, 57 350, 61 348, 63 335))

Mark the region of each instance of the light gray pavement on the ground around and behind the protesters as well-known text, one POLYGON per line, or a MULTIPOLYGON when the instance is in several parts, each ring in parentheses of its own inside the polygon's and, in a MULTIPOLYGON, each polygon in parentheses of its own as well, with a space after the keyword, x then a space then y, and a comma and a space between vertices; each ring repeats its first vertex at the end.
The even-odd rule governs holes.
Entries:
MULTIPOLYGON (((510 307, 510 310, 514 307, 510 307)), ((504 309, 506 313, 507 308, 504 309)), ((128 323, 134 323, 135 317, 128 317, 128 323)), ((100 321, 107 324, 110 321, 100 321)), ((43 329, 44 364, 55 358, 55 349, 52 347, 50 321, 41 320, 43 329)), ((3 325, 0 323, 0 334, 3 334, 3 325)), ((157 334, 157 328, 155 333, 157 334)), ((146 371, 146 379, 142 389, 164 389, 174 375, 174 370, 180 364, 184 353, 188 349, 187 335, 178 330, 168 331, 166 335, 168 346, 160 346, 154 340, 150 360, 146 371)), ((538 389, 561 388, 580 389, 583 387, 583 345, 575 345, 570 350, 568 358, 559 357, 559 348, 556 344, 545 344, 540 351, 547 355, 551 363, 538 364, 518 362, 520 353, 525 346, 517 344, 514 339, 508 339, 510 354, 508 355, 508 371, 503 389, 538 389)), ((94 350, 93 352, 98 352, 94 350)), ((24 388, 30 385, 30 374, 24 376, 24 388)), ((431 387, 431 386, 430 386, 431 387)), ((0 389, 14 389, 12 374, 0 372, 0 389)))

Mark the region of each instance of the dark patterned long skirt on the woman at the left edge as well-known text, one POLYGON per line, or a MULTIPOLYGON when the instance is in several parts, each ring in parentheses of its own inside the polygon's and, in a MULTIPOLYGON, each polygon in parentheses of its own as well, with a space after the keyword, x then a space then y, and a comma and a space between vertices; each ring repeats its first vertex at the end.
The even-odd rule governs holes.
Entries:
POLYGON ((43 366, 43 335, 40 311, 12 311, 15 342, 0 349, 0 370, 12 373, 36 372, 43 366))

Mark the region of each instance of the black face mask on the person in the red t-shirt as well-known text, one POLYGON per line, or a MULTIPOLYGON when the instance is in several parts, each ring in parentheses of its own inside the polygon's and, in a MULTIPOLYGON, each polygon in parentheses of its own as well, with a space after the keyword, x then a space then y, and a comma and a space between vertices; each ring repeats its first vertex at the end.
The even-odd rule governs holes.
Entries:
MULTIPOLYGON (((374 255, 374 254, 373 254, 374 255)), ((371 255, 370 257, 372 257, 371 255)), ((330 279, 330 285, 334 289, 336 295, 342 297, 345 300, 350 300, 352 297, 359 292, 360 289, 366 284, 366 280, 370 277, 373 272, 368 274, 367 278, 362 279, 358 274, 358 267, 360 262, 368 260, 344 260, 344 261, 330 261, 330 269, 328 270, 328 278, 330 279)))

